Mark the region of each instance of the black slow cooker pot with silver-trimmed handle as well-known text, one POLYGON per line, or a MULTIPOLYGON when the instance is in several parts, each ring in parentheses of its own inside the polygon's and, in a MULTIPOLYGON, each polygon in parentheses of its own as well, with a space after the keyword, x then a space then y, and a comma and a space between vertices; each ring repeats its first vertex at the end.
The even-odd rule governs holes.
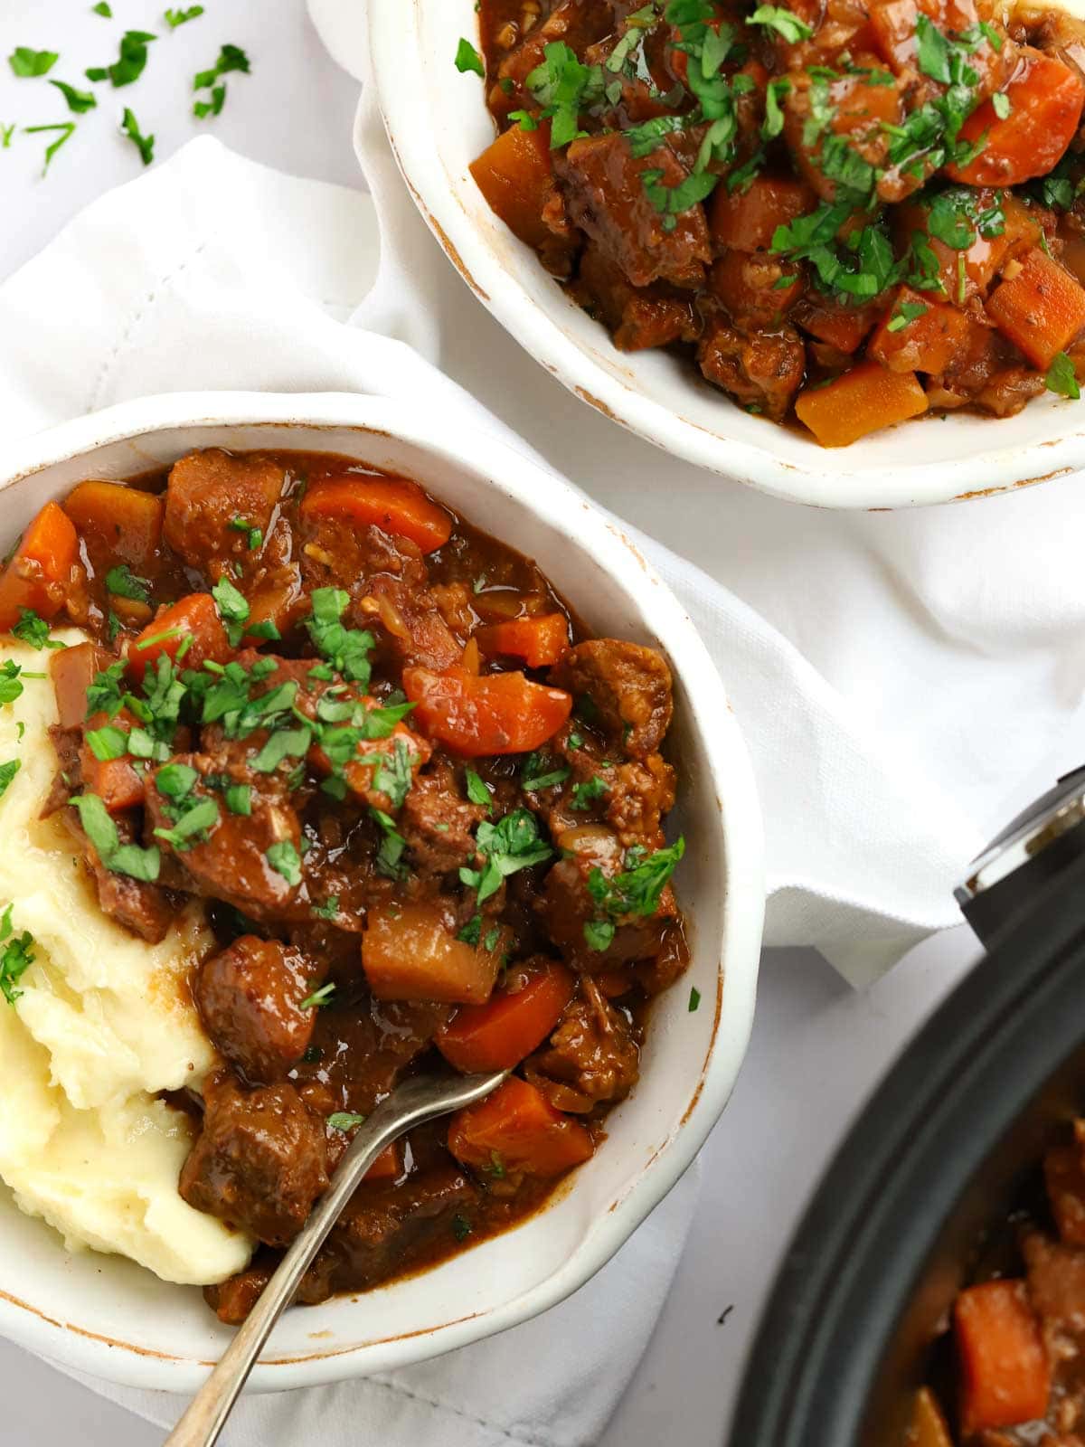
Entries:
POLYGON ((977 1242, 1085 1113, 1085 768, 975 862, 988 949, 885 1077, 784 1257, 731 1447, 903 1447, 977 1242))

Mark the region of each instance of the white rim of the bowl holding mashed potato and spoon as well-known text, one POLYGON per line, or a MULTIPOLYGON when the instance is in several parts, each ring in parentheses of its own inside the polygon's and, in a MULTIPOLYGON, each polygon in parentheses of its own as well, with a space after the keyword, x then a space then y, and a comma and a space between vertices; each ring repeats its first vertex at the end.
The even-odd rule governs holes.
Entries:
MULTIPOLYGON (((733 1090, 752 1027, 765 874, 761 810, 749 757, 723 682, 678 599, 621 527, 587 498, 444 404, 422 410, 388 398, 336 392, 191 392, 142 398, 3 449, 0 498, 14 483, 103 446, 178 428, 262 425, 282 427, 284 449, 289 447, 292 428, 392 436, 451 467, 483 478, 488 486, 503 492, 529 518, 563 534, 577 550, 590 546, 608 574, 625 590, 644 598, 644 585, 651 583, 652 627, 687 695, 690 726, 702 738, 709 776, 706 790, 716 799, 720 852, 726 858, 725 935, 715 946, 719 956, 715 1020, 702 1074, 678 1127, 639 1168, 621 1200, 610 1205, 603 1220, 587 1229, 558 1270, 493 1310, 386 1341, 259 1362, 249 1389, 281 1391, 388 1370, 467 1346, 557 1305, 606 1265, 684 1174, 733 1090), (454 425, 450 425, 453 418, 454 425)), ((213 1365, 97 1337, 1 1289, 0 1336, 77 1370, 130 1386, 190 1392, 213 1365)))

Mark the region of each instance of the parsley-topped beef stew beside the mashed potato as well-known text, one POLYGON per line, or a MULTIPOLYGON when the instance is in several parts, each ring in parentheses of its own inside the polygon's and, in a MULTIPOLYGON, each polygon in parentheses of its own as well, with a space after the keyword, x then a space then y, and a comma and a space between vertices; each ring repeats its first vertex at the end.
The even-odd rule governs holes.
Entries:
POLYGON ((179 1191, 262 1243, 207 1289, 223 1320, 405 1072, 515 1071, 383 1153, 302 1301, 503 1230, 592 1156, 689 962, 657 651, 592 637, 417 482, 217 449, 49 502, 0 629, 51 650, 46 810, 100 907, 159 941, 208 904, 191 990, 221 1069, 182 1101, 179 1191))

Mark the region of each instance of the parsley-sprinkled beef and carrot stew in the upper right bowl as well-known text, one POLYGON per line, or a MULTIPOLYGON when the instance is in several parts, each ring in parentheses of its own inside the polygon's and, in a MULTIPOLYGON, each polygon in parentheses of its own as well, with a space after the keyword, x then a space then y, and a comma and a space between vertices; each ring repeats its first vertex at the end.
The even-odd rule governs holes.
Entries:
POLYGON ((612 333, 845 446, 1085 376, 1085 23, 991 0, 480 0, 493 211, 612 333))

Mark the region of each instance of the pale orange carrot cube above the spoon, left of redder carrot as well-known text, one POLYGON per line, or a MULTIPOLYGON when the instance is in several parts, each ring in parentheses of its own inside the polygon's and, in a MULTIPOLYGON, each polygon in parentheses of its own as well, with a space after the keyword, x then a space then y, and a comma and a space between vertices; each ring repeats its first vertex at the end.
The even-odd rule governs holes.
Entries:
POLYGON ((493 949, 457 939, 435 904, 389 904, 369 910, 362 965, 378 1000, 483 1004, 506 943, 503 930, 493 949))

